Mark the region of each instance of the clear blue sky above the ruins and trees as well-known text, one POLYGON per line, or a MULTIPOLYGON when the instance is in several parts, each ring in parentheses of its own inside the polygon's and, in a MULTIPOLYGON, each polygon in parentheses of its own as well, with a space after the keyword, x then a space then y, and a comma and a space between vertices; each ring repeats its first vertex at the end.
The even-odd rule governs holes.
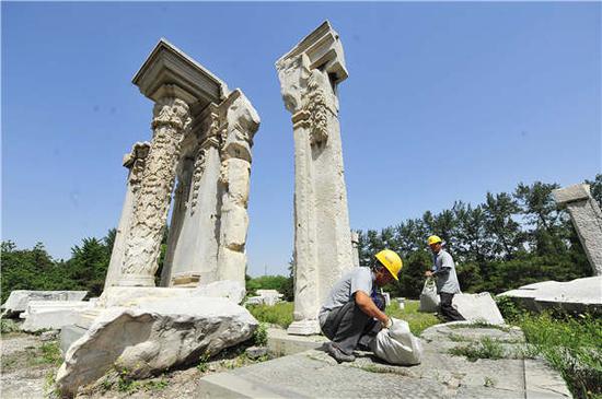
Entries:
POLYGON ((150 140, 131 78, 160 37, 241 87, 255 138, 251 274, 292 254, 293 141, 274 62, 324 20, 349 79, 340 126, 354 228, 519 181, 601 172, 601 3, 2 2, 2 239, 68 258, 115 227, 121 156, 150 140))

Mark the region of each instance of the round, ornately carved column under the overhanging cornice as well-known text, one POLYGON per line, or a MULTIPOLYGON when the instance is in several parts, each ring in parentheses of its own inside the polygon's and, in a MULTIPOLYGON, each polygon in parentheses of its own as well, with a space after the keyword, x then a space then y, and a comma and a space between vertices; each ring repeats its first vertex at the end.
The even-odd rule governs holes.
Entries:
MULTIPOLYGON (((166 87, 165 92, 172 91, 166 87)), ((135 199, 119 280, 119 285, 124 286, 154 286, 180 146, 190 124, 188 105, 175 96, 165 95, 159 98, 153 116, 153 138, 142 174, 140 193, 135 199)))

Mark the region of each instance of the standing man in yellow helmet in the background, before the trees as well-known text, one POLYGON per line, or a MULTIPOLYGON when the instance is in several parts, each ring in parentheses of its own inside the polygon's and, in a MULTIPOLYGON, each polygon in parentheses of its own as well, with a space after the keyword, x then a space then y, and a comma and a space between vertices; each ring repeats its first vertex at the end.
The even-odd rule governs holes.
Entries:
POLYGON ((451 255, 442 248, 441 238, 436 235, 428 237, 428 246, 432 251, 432 269, 426 277, 437 278, 437 293, 441 297, 441 316, 445 321, 465 320, 452 306, 453 295, 460 293, 460 283, 455 274, 455 263, 451 255))

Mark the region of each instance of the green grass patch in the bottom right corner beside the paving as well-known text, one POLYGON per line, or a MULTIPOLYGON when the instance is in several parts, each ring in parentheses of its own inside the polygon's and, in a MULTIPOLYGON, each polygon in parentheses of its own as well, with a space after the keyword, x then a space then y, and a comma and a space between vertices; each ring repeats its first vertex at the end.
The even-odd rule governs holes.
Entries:
POLYGON ((531 354, 557 369, 575 398, 602 398, 602 318, 525 313, 516 322, 531 354))

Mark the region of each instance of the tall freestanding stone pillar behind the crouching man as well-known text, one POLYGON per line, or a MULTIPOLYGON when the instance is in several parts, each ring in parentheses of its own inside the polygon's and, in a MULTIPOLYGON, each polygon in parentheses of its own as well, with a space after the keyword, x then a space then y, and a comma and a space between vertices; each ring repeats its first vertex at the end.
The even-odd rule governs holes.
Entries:
POLYGON ((289 333, 320 332, 317 312, 354 267, 338 121, 343 46, 323 23, 276 62, 294 136, 294 321, 289 333))

